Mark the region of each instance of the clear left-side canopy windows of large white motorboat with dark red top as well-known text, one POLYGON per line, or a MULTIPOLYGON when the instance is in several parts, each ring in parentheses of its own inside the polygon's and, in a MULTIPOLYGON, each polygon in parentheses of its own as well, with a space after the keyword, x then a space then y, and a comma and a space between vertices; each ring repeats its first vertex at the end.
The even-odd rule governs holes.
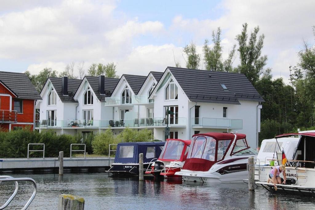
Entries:
POLYGON ((216 140, 212 137, 198 136, 192 142, 187 158, 202 158, 215 161, 216 140))

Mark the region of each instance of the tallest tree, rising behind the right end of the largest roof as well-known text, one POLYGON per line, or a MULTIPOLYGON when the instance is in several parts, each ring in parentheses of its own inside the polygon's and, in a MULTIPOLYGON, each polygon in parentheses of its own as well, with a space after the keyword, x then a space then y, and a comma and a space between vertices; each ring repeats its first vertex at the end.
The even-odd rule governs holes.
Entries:
POLYGON ((259 26, 257 26, 254 28, 254 31, 251 32, 250 38, 247 41, 247 27, 247 23, 243 24, 242 32, 236 36, 241 61, 241 64, 237 67, 237 71, 245 74, 249 81, 255 85, 268 59, 267 55, 261 55, 265 36, 262 34, 257 40, 257 34, 259 32, 259 26))

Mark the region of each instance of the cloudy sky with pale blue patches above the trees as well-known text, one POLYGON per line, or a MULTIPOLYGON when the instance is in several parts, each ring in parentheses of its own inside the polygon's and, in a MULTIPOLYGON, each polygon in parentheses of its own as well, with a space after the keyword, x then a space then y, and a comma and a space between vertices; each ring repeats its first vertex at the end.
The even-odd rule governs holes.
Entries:
MULTIPOLYGON (((287 82, 303 40, 314 44, 315 1, 0 0, 0 71, 59 72, 67 64, 114 62, 117 74, 147 75, 185 67, 183 47, 222 29, 223 59, 247 22, 264 34, 262 55, 287 82)), ((238 45, 237 45, 238 46, 238 45)), ((239 64, 238 54, 233 66, 239 64)), ((204 69, 203 61, 200 69, 204 69)))

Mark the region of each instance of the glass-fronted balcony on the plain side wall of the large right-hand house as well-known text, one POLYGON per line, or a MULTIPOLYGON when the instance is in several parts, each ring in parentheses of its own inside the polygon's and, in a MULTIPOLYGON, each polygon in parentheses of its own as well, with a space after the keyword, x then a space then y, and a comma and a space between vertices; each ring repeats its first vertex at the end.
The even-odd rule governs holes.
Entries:
POLYGON ((193 128, 243 129, 243 120, 225 118, 192 118, 193 128))

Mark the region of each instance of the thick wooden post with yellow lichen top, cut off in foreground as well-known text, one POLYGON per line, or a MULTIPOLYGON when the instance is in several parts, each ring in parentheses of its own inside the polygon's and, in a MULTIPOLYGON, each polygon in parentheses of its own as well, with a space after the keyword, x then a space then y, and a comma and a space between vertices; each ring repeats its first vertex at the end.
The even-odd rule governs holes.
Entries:
POLYGON ((84 198, 67 194, 59 195, 58 210, 84 210, 84 198))

